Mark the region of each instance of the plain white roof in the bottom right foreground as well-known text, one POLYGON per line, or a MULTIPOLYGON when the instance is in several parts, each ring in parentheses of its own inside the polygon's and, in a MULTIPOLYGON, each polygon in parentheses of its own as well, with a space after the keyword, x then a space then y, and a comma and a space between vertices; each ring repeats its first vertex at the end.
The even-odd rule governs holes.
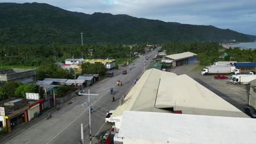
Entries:
POLYGON ((252 118, 125 111, 114 143, 255 143, 252 118))

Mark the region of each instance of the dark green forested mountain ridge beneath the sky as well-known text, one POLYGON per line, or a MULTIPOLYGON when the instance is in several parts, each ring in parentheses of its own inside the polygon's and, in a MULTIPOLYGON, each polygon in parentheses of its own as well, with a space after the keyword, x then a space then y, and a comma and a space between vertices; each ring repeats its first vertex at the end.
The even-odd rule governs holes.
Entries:
POLYGON ((255 36, 213 26, 139 19, 107 13, 84 14, 41 3, 0 3, 0 44, 177 43, 253 41, 255 36))

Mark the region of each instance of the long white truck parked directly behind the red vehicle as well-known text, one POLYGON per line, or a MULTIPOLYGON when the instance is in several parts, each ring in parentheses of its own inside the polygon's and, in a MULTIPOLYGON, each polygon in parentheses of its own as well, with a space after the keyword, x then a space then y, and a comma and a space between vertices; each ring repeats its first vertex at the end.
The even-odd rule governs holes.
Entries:
POLYGON ((210 65, 201 70, 201 75, 211 74, 240 74, 240 69, 232 65, 210 65))

